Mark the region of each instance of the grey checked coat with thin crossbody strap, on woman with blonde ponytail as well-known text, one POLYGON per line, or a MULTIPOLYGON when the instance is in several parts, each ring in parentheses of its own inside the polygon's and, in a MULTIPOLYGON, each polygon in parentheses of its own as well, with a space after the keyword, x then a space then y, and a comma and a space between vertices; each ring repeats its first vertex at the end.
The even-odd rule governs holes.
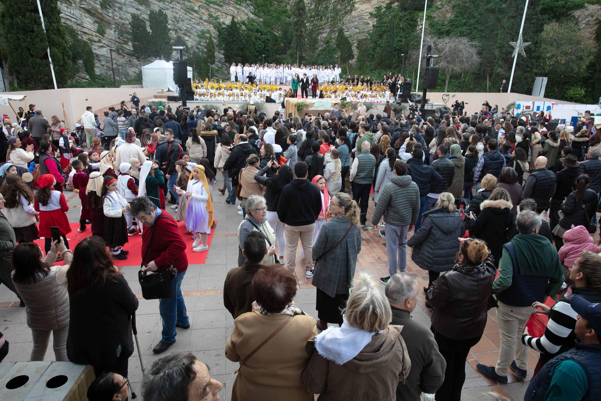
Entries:
MULTIPOLYGON (((332 217, 322 226, 313 245, 313 260, 317 260, 326 250, 341 240, 352 223, 347 217, 332 217)), ((334 249, 319 258, 315 264, 311 284, 331 297, 348 294, 350 283, 355 276, 357 255, 361 252, 361 228, 352 226, 349 234, 334 249)))

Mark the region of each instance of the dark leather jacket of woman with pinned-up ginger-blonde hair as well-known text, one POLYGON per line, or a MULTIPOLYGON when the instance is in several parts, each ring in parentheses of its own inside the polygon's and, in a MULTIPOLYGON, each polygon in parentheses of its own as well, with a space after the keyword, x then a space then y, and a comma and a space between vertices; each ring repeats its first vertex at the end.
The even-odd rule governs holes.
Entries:
POLYGON ((445 337, 468 340, 483 334, 496 273, 492 256, 483 264, 486 270, 482 273, 441 275, 428 291, 426 299, 434 307, 432 327, 445 337))

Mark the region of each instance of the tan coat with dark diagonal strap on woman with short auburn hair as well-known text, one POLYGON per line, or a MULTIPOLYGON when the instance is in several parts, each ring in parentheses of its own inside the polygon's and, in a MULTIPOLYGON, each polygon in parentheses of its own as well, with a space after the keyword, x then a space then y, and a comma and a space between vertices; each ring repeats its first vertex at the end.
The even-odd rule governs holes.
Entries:
MULTIPOLYGON (((234 331, 225 345, 225 357, 244 360, 289 315, 262 315, 248 312, 234 320, 234 331)), ((313 401, 313 394, 301 381, 309 356, 305 344, 317 335, 315 319, 296 315, 278 334, 240 368, 231 401, 313 401)))

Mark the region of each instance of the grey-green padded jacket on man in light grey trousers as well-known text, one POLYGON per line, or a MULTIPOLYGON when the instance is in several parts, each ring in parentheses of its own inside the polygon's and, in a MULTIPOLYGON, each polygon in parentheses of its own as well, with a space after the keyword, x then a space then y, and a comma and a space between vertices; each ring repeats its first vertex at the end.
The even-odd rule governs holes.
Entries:
POLYGON ((371 224, 380 222, 394 226, 415 225, 419 214, 419 188, 410 175, 393 176, 382 189, 371 224))

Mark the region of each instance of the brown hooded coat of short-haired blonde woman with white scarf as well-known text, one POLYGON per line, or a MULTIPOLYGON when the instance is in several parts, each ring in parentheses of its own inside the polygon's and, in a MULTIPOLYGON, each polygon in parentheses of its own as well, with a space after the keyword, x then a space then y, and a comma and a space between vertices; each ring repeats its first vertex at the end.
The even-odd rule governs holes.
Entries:
POLYGON ((401 337, 403 326, 374 334, 355 358, 343 365, 313 352, 302 381, 318 400, 394 401, 398 382, 405 382, 411 361, 401 337))

